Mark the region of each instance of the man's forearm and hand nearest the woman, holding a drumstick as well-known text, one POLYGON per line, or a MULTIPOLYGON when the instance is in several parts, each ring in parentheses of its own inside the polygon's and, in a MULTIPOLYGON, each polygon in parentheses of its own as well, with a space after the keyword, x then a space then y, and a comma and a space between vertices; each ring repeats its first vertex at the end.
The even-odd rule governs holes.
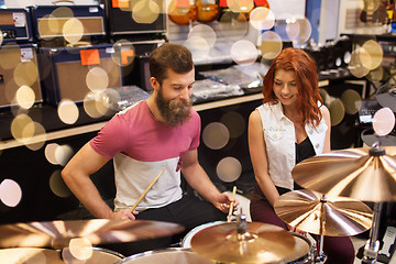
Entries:
MULTIPOLYGON (((220 193, 198 162, 197 150, 189 151, 183 162, 182 173, 187 183, 216 208, 228 212, 232 196, 220 193)), ((238 201, 235 202, 235 207, 238 201)))

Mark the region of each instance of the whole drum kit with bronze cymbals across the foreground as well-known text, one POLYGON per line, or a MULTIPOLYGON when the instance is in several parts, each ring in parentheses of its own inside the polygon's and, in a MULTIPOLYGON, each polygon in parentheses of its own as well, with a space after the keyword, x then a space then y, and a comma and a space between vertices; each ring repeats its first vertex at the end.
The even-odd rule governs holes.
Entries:
POLYGON ((240 213, 237 221, 197 227, 182 248, 124 257, 95 246, 168 237, 184 228, 146 220, 58 220, 0 226, 0 263, 324 263, 323 235, 369 229, 362 262, 375 263, 382 204, 396 200, 396 146, 320 154, 297 164, 292 175, 305 189, 282 195, 275 212, 287 224, 319 235, 319 249, 305 235, 249 222, 240 213), (374 202, 374 209, 363 201, 374 202), (78 239, 84 241, 72 243, 78 239), (87 248, 89 252, 78 252, 87 248))

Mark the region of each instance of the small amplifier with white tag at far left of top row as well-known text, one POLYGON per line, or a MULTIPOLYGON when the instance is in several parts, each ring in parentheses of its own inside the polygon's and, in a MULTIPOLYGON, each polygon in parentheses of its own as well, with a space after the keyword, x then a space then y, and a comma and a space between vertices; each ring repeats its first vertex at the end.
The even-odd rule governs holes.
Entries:
POLYGON ((0 9, 0 44, 33 41, 32 21, 29 9, 0 9))

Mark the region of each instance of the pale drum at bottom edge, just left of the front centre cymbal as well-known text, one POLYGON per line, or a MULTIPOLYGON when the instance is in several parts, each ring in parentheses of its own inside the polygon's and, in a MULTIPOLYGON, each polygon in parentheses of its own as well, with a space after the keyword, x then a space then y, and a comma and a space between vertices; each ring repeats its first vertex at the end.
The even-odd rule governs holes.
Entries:
POLYGON ((198 254, 194 253, 190 249, 169 248, 164 250, 147 251, 135 255, 128 256, 127 258, 118 262, 117 264, 213 264, 198 254))

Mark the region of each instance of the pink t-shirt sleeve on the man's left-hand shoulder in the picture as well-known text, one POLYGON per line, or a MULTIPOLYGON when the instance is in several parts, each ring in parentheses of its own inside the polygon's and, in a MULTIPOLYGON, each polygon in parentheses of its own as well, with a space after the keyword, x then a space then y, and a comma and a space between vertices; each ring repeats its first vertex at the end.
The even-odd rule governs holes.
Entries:
POLYGON ((89 144, 98 154, 112 158, 117 153, 123 152, 128 145, 128 124, 122 116, 113 117, 90 140, 89 144))

